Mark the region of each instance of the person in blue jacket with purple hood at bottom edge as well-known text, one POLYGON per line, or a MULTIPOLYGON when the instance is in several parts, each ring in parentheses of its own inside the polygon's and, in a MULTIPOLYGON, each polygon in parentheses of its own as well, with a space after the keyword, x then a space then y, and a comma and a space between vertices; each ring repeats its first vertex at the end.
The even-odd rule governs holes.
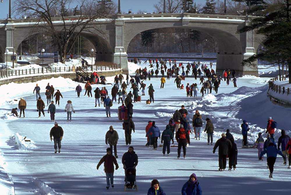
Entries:
POLYGON ((195 173, 192 173, 189 180, 183 185, 182 195, 202 195, 202 189, 195 173))

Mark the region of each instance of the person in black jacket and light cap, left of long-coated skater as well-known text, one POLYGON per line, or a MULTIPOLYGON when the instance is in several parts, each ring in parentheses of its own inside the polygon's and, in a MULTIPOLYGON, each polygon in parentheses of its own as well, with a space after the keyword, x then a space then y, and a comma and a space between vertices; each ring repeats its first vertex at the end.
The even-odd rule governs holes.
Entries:
POLYGON ((229 139, 226 138, 225 133, 221 134, 221 138, 216 141, 214 147, 213 147, 213 154, 215 153, 215 150, 218 149, 218 162, 219 162, 219 171, 224 171, 226 168, 226 156, 228 155, 228 151, 232 147, 232 143, 229 139))

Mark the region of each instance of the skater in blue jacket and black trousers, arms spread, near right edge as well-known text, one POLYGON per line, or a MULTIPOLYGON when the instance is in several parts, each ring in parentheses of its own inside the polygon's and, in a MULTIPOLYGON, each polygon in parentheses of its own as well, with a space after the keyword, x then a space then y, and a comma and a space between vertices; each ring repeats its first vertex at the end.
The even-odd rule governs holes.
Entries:
POLYGON ((286 157, 282 154, 282 152, 280 150, 277 150, 274 143, 269 143, 269 146, 265 150, 263 150, 260 157, 262 158, 262 156, 264 156, 264 154, 266 154, 266 153, 267 153, 267 163, 268 163, 269 170, 270 170, 269 178, 272 179, 273 178, 273 171, 274 171, 274 164, 276 162, 277 154, 280 154, 283 157, 284 161, 285 161, 286 157))

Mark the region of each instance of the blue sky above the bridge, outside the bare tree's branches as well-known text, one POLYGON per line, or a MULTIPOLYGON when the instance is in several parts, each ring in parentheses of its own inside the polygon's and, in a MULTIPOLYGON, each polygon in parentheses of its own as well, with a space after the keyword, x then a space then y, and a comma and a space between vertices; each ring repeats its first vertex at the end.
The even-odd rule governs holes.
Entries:
MULTIPOLYGON (((11 4, 13 5, 13 1, 11 0, 11 4)), ((118 2, 118 0, 113 0, 118 2)), ((121 11, 128 12, 128 10, 132 10, 132 12, 137 12, 138 10, 143 10, 147 12, 153 12, 153 5, 158 2, 158 0, 120 0, 121 1, 121 11)), ((6 18, 8 14, 8 3, 9 0, 3 0, 3 3, 0 3, 0 18, 6 18)), ((205 0, 194 0, 196 3, 205 3, 205 0)), ((16 16, 16 18, 18 18, 16 16)))

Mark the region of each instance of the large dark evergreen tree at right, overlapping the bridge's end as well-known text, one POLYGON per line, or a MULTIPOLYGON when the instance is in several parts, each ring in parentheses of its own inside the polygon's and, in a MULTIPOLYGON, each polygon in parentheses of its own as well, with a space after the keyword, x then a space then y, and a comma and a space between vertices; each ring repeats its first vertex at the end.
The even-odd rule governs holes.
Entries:
MULTIPOLYGON (((257 10, 258 11, 258 10, 257 10)), ((252 66, 258 59, 270 63, 287 63, 291 69, 291 0, 284 0, 269 11, 265 4, 261 10, 264 17, 252 18, 249 25, 239 30, 240 33, 255 30, 265 36, 260 53, 243 61, 243 65, 252 66)), ((291 74, 289 74, 291 83, 291 74)))

